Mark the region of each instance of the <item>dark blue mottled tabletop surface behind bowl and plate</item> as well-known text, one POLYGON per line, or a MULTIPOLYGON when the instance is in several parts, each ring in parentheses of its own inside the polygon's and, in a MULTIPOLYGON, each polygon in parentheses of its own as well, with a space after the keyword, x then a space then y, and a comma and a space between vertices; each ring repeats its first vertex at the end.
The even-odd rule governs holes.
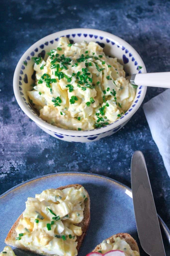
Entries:
MULTIPOLYGON (((63 171, 102 174, 130 186, 130 160, 141 150, 158 214, 170 227, 170 179, 142 107, 111 137, 76 144, 40 130, 22 112, 12 89, 14 70, 25 50, 48 34, 76 27, 115 34, 137 50, 147 72, 169 71, 169 6, 165 0, 1 2, 0 194, 30 178, 63 171)), ((148 88, 144 102, 163 90, 148 88)))

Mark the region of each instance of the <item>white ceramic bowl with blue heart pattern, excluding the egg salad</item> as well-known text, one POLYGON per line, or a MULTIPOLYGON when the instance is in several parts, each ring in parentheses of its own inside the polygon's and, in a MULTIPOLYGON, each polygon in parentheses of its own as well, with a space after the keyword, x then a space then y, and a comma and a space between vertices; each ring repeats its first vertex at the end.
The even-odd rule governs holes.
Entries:
POLYGON ((43 131, 60 140, 70 142, 91 142, 112 135, 119 131, 140 107, 143 98, 145 97, 147 87, 140 86, 137 88, 132 105, 120 119, 104 127, 89 131, 66 130, 48 124, 46 121, 42 120, 32 108, 27 96, 27 91, 30 90, 30 85, 34 83, 35 80, 35 72, 33 70, 31 58, 33 56, 42 56, 42 58, 47 59, 47 52, 57 47, 58 40, 61 36, 66 36, 71 42, 81 42, 83 40, 86 40, 87 42, 97 42, 104 48, 106 55, 117 57, 118 61, 124 66, 126 75, 141 72, 146 73, 145 65, 139 54, 127 42, 115 35, 101 30, 88 28, 59 31, 37 41, 19 60, 13 80, 14 93, 19 106, 43 131), (142 67, 139 71, 138 66, 142 67))

